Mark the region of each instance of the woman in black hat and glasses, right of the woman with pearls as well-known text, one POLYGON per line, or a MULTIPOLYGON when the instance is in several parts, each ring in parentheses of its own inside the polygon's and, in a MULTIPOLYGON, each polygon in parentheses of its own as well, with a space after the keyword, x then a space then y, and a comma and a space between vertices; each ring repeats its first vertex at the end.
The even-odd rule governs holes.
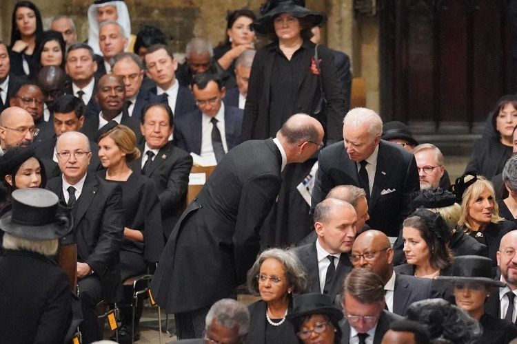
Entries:
POLYGON ((318 292, 299 295, 293 299, 292 322, 299 343, 341 343, 343 312, 332 305, 328 295, 318 292))

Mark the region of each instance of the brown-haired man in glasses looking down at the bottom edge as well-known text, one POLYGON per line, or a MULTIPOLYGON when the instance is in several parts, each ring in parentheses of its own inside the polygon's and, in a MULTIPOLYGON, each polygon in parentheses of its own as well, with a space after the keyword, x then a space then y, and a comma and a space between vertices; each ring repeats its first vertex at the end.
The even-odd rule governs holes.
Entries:
POLYGON ((403 317, 384 310, 384 284, 369 269, 352 270, 343 283, 342 344, 380 344, 389 324, 403 317))

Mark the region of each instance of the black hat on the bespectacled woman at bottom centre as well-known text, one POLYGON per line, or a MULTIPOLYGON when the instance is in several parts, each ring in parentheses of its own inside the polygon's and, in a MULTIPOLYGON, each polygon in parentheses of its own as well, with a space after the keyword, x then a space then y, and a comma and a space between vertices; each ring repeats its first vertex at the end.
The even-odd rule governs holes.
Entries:
POLYGON ((318 292, 298 295, 294 297, 292 305, 292 312, 287 314, 289 320, 310 314, 326 314, 336 323, 343 319, 343 312, 332 306, 330 297, 318 292))

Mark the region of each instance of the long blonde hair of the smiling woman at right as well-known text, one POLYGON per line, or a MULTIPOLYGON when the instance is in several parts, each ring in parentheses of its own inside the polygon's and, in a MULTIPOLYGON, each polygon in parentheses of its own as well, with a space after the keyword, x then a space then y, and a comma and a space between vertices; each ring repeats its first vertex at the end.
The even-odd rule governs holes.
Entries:
POLYGON ((488 190, 492 199, 494 200, 494 207, 492 208, 492 216, 490 222, 496 224, 498 222, 503 221, 503 217, 499 216, 499 206, 496 202, 496 192, 494 191, 494 186, 489 182, 485 177, 478 176, 478 180, 474 182, 471 186, 465 190, 463 193, 463 199, 461 200, 461 216, 458 220, 458 225, 465 228, 465 232, 469 233, 472 231, 472 226, 470 226, 469 219, 469 203, 472 200, 475 200, 479 195, 488 190))

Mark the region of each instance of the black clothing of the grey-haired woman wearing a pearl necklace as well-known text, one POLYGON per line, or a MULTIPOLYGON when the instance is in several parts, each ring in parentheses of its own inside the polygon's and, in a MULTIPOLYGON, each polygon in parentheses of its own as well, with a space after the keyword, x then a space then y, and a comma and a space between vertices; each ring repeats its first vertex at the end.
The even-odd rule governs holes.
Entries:
MULTIPOLYGON (((292 323, 287 319, 284 323, 278 326, 278 337, 275 341, 265 341, 265 332, 266 332, 266 319, 265 312, 267 310, 267 303, 265 301, 256 301, 251 305, 247 306, 247 309, 250 311, 250 332, 247 333, 246 344, 289 344, 289 343, 298 343, 298 337, 294 333, 294 327, 292 327, 292 323)), ((291 308, 289 309, 291 310, 291 308)), ((289 310, 287 312, 289 312, 289 310)))

